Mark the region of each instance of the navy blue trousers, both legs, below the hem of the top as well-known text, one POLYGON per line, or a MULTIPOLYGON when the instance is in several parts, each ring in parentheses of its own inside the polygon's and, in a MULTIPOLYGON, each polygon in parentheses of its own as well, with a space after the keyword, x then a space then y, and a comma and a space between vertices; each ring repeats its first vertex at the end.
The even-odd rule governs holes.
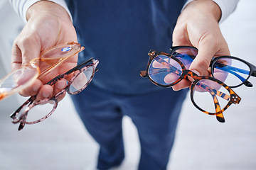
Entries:
POLYGON ((186 91, 163 88, 149 94, 122 95, 90 84, 72 96, 82 122, 100 145, 97 168, 110 169, 122 163, 122 118, 128 115, 137 127, 141 144, 138 169, 166 169, 186 91))

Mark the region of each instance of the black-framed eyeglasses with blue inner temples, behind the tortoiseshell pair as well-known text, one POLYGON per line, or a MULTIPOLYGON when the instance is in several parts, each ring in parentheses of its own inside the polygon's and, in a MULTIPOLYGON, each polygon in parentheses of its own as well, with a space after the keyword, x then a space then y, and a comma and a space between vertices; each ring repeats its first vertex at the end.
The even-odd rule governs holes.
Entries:
MULTIPOLYGON (((198 55, 198 49, 190 46, 176 46, 170 48, 170 55, 181 60, 188 69, 198 55)), ((225 82, 229 87, 235 88, 244 84, 252 87, 248 79, 256 77, 256 66, 233 56, 213 57, 210 62, 210 74, 220 81, 225 82)))

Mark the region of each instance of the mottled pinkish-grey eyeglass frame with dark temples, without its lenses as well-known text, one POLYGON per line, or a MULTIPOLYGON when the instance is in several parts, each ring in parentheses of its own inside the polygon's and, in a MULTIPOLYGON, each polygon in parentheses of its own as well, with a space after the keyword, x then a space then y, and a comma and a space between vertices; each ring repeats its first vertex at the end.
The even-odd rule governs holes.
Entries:
POLYGON ((36 96, 31 96, 30 98, 28 98, 28 100, 23 103, 13 114, 10 115, 10 117, 13 119, 12 123, 16 124, 16 123, 20 123, 19 127, 18 127, 18 130, 22 130, 23 127, 25 126, 25 124, 36 124, 36 123, 40 123, 42 122, 43 120, 46 120, 46 118, 50 117, 50 115, 53 114, 53 112, 55 111, 55 109, 57 108, 58 106, 58 96, 62 95, 62 94, 65 94, 65 92, 68 92, 68 94, 70 95, 74 95, 74 94, 79 94, 82 90, 84 90, 88 84, 90 84, 90 82, 92 81, 92 78, 94 77, 95 75, 95 72, 97 72, 97 64, 99 63, 98 60, 94 60, 93 58, 90 58, 89 60, 85 61, 85 62, 82 62, 81 64, 79 64, 78 66, 76 67, 73 67, 73 69, 70 69, 68 70, 68 72, 65 72, 63 74, 60 74, 58 75, 57 77, 51 79, 50 81, 48 81, 48 85, 52 86, 53 84, 55 84, 56 82, 60 81, 60 79, 65 79, 65 77, 68 77, 70 74, 74 74, 73 77, 68 81, 68 84, 67 86, 65 86, 64 89, 62 89, 61 91, 59 91, 57 94, 55 94, 54 96, 51 96, 49 98, 43 98, 42 100, 40 101, 36 101, 36 103, 33 103, 35 100, 36 100, 36 96), (89 64, 87 65, 88 63, 92 62, 92 64, 89 64), (81 68, 82 67, 82 68, 81 68), (87 69, 88 67, 92 67, 93 68, 93 72, 92 72, 92 75, 90 77, 90 79, 87 81, 87 83, 82 86, 81 89, 79 89, 78 91, 75 91, 75 93, 72 93, 70 92, 69 90, 69 87, 70 85, 73 83, 73 81, 75 80, 76 77, 78 77, 78 75, 83 72, 85 69, 87 69), (78 71, 78 72, 77 72, 78 71), (44 116, 43 118, 41 119, 38 119, 38 120, 35 120, 35 121, 32 121, 32 122, 26 122, 26 116, 28 114, 28 111, 41 104, 41 103, 44 103, 46 101, 54 101, 54 106, 53 106, 53 109, 52 111, 50 111, 50 113, 48 113, 46 116, 44 116), (19 118, 16 118, 16 115, 18 115, 18 113, 20 111, 23 110, 23 108, 26 108, 26 110, 24 111, 24 113, 22 113, 19 118))

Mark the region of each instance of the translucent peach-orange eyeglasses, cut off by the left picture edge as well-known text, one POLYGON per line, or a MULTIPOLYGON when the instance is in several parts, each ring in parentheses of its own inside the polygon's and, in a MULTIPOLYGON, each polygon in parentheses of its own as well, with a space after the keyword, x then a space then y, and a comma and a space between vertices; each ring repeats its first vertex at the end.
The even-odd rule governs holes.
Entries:
POLYGON ((70 59, 82 50, 84 50, 84 47, 81 47, 80 44, 66 42, 41 52, 38 58, 31 60, 29 64, 16 69, 0 80, 0 101, 31 86, 33 81, 46 76, 65 60, 70 59))

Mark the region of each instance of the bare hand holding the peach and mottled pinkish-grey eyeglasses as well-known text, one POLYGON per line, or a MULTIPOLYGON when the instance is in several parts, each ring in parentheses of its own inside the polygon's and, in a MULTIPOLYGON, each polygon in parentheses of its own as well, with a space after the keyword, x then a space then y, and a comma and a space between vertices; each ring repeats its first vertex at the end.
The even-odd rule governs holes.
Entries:
MULTIPOLYGON (((78 41, 70 16, 58 4, 50 1, 38 1, 28 8, 26 18, 28 22, 14 40, 11 61, 13 70, 28 64, 33 58, 38 58, 41 52, 50 47, 78 41)), ((19 94, 22 96, 37 94, 37 100, 56 94, 65 88, 65 80, 58 81, 54 86, 46 85, 46 83, 58 74, 75 67, 77 60, 77 55, 71 57, 54 69, 54 72, 50 72, 41 79, 36 79, 30 87, 20 91, 19 94)))

